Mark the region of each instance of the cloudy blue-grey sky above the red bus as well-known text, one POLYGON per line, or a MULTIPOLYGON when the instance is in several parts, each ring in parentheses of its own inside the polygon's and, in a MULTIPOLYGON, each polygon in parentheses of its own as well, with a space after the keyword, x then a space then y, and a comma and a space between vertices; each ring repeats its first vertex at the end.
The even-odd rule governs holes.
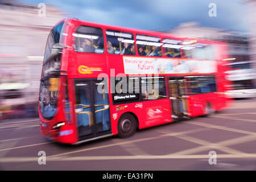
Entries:
POLYGON ((204 27, 247 32, 246 5, 237 0, 20 0, 24 3, 56 5, 70 16, 89 22, 144 30, 168 30, 184 22, 204 27), (208 15, 209 3, 216 3, 217 17, 208 15))

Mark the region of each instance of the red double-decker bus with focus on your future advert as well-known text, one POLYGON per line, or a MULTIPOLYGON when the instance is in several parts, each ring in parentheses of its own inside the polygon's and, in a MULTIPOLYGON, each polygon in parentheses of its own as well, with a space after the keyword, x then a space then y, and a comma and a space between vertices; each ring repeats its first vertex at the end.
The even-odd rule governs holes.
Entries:
POLYGON ((41 133, 77 144, 226 107, 225 44, 66 19, 47 40, 41 133))

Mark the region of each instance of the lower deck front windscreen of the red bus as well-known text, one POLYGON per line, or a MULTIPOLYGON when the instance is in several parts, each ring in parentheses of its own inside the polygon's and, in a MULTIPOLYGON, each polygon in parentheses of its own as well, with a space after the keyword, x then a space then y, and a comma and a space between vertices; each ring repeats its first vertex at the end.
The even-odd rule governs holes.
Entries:
POLYGON ((41 81, 39 106, 41 114, 47 120, 56 114, 58 94, 59 78, 51 77, 41 81))

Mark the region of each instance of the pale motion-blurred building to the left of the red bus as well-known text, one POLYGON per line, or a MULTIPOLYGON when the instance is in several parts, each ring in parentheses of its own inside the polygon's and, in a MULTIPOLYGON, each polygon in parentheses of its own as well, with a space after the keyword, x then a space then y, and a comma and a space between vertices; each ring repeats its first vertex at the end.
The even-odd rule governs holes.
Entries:
POLYGON ((37 5, 0 0, 0 119, 1 107, 38 102, 47 36, 64 19, 55 6, 39 11, 37 5))

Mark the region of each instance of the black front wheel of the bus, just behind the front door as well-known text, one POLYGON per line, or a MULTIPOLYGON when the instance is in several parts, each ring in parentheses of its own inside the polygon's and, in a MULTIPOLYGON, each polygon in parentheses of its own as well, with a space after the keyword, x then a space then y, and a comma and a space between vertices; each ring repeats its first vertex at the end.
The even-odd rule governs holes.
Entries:
POLYGON ((123 114, 118 121, 118 136, 120 138, 131 137, 137 129, 137 121, 129 113, 123 114))

